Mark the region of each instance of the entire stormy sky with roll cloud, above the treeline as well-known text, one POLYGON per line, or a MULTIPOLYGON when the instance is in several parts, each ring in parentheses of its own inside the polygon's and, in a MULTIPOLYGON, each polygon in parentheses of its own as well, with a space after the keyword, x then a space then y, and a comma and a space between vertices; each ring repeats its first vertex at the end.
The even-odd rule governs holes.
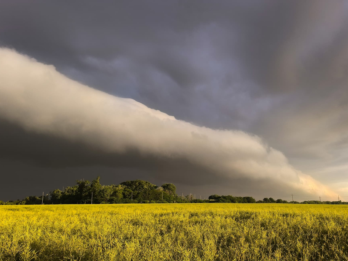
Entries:
POLYGON ((4 0, 0 79, 1 200, 100 176, 348 201, 346 1, 4 0))

